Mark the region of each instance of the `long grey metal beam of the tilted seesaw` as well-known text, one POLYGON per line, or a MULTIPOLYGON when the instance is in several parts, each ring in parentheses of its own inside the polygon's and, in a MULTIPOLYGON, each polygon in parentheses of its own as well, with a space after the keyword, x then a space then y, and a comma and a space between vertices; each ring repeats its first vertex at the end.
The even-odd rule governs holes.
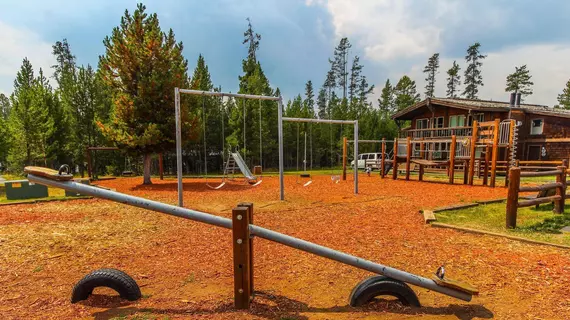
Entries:
MULTIPOLYGON (((143 209, 153 210, 162 212, 165 214, 173 215, 180 218, 190 219, 198 222, 203 222, 211 224, 214 226, 231 229, 232 220, 228 218, 218 217, 213 214, 200 212, 196 210, 181 208, 169 204, 165 204, 158 201, 148 200, 144 198, 139 198, 135 196, 130 196, 120 192, 105 190, 93 186, 84 185, 74 181, 56 181, 40 176, 28 175, 28 180, 35 183, 40 183, 46 186, 52 186, 56 188, 61 188, 83 195, 89 195, 97 198, 107 199, 115 202, 120 202, 130 206, 135 206, 143 209)), ((288 247, 299 249, 305 252, 309 252, 324 258, 338 261, 340 263, 348 264, 353 267, 374 272, 377 274, 382 274, 387 277, 407 282, 418 287, 433 290, 457 299, 464 301, 471 301, 471 295, 462 291, 454 290, 447 287, 442 287, 437 285, 433 280, 423 278, 405 271, 394 269, 388 266, 384 266, 372 261, 368 261, 359 257, 355 257, 344 252, 336 251, 318 244, 304 241, 298 238, 294 238, 288 235, 284 235, 279 232, 275 232, 269 229, 258 227, 256 225, 249 225, 250 233, 254 236, 260 238, 274 241, 288 247)))

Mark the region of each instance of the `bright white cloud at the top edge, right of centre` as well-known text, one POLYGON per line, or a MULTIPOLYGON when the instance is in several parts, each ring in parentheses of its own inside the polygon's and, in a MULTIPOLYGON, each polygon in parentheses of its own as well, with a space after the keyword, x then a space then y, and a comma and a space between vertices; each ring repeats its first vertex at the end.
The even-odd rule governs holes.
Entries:
POLYGON ((434 52, 440 46, 439 17, 455 11, 455 2, 430 1, 426 16, 415 16, 412 0, 307 0, 327 8, 337 37, 349 37, 366 57, 383 61, 434 52))

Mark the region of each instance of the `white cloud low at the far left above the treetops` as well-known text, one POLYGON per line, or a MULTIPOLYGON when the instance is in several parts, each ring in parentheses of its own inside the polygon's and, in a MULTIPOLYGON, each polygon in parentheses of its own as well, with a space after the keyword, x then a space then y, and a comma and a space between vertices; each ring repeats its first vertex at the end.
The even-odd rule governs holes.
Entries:
MULTIPOLYGON (((51 77, 51 66, 55 59, 51 54, 51 44, 36 33, 25 28, 17 28, 0 20, 0 92, 9 94, 13 90, 16 73, 27 57, 34 73, 42 68, 46 77, 51 77)), ((53 85, 53 81, 50 81, 53 85)))

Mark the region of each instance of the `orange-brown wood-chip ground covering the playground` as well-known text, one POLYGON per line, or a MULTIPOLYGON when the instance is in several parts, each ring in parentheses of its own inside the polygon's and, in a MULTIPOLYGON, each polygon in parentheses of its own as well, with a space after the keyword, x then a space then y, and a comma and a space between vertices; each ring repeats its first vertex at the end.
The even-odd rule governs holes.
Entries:
MULTIPOLYGON (((350 179, 350 178, 349 178, 350 179)), ((422 308, 379 300, 348 306, 351 289, 371 274, 263 239, 255 240, 256 298, 233 309, 231 232, 106 200, 0 207, 2 319, 570 319, 570 252, 426 226, 418 213, 504 197, 504 188, 468 187, 361 176, 334 184, 317 177, 303 188, 286 178, 211 190, 184 183, 189 208, 230 217, 238 202, 255 205, 254 222, 304 240, 429 277, 447 275, 478 287, 470 303, 413 287, 422 308), (109 289, 77 304, 76 281, 117 268, 141 286, 128 302, 109 289), (111 296, 109 296, 109 294, 111 296)), ((174 204, 176 182, 124 178, 100 184, 174 204)))

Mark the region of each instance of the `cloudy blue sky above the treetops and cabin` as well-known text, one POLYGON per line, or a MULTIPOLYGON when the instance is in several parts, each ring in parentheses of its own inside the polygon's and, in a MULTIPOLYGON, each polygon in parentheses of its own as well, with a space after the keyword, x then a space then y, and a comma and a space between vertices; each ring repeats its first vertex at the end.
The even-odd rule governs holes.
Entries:
MULTIPOLYGON (((51 75, 51 46, 66 38, 79 64, 96 66, 103 39, 119 25, 126 0, 0 0, 0 93, 9 94, 24 57, 51 75)), ((428 58, 440 53, 436 96, 445 96, 446 70, 454 60, 465 70, 465 51, 475 42, 487 55, 479 98, 508 100, 506 76, 526 64, 534 81, 528 103, 555 105, 570 79, 570 1, 567 0, 148 0, 163 30, 184 43, 189 74, 204 55, 214 84, 236 92, 246 18, 261 34, 258 58, 283 96, 318 88, 342 37, 360 56, 376 86, 376 105, 386 79, 403 75, 423 93, 428 58)), ((462 76, 463 80, 463 76, 462 76)), ((51 83, 54 85, 54 80, 51 83)), ((422 95, 423 96, 423 95, 422 95)))

